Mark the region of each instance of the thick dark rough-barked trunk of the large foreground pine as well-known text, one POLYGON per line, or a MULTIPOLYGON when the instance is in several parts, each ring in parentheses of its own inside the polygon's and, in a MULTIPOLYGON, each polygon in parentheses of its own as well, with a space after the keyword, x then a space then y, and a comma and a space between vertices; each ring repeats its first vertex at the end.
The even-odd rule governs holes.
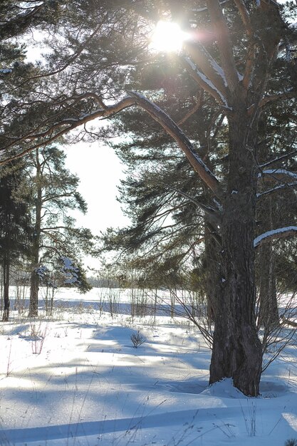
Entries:
MULTIPOLYGON (((218 294, 210 383, 233 378, 245 395, 259 395, 262 351, 256 333, 254 219, 256 174, 245 105, 229 118, 229 182, 222 216, 221 289, 218 294)), ((255 128, 255 122, 253 123, 255 128)))

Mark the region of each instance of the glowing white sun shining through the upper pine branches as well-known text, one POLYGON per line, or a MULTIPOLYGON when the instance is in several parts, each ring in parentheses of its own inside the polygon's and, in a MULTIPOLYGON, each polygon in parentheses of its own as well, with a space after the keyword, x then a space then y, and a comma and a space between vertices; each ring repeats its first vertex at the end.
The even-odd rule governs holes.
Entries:
POLYGON ((150 48, 155 51, 180 51, 187 33, 172 21, 158 21, 152 32, 150 48))

